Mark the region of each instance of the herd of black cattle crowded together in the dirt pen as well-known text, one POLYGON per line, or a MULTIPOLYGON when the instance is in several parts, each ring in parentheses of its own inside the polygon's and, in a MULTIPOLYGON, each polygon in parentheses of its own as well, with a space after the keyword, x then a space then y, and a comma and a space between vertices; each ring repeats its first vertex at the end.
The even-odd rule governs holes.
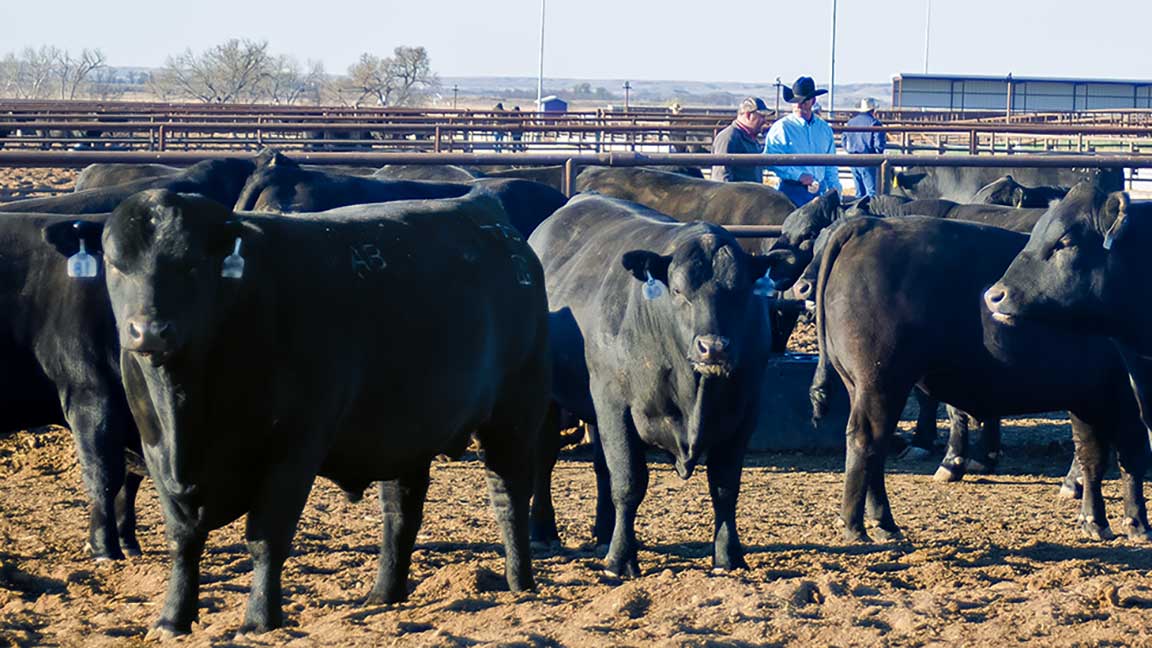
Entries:
POLYGON ((797 317, 767 289, 812 304, 814 416, 835 376, 849 392, 850 540, 869 540, 866 520, 900 536, 884 468, 909 392, 932 404, 914 444, 935 436, 933 399, 952 406, 945 479, 994 467, 1000 416, 1069 412, 1062 492, 1083 492, 1078 523, 1112 537, 1114 452, 1123 532, 1152 538, 1152 206, 1116 173, 908 169, 902 196, 793 210, 767 186, 677 171, 589 168, 569 201, 555 169, 366 175, 273 151, 93 165, 73 194, 2 208, 3 428, 71 429, 97 559, 139 553, 134 500, 151 476, 172 563, 162 634, 190 631, 209 533, 244 515, 242 630, 282 624, 317 475, 353 499, 379 483, 369 598, 403 600, 430 462, 472 439, 508 587, 531 588, 530 543, 559 541, 561 409, 589 423, 607 572, 642 573, 649 446, 685 480, 705 468, 712 566, 734 570, 761 374, 797 317), (782 234, 737 241, 732 224, 782 234), (970 420, 985 425, 972 458, 970 420))

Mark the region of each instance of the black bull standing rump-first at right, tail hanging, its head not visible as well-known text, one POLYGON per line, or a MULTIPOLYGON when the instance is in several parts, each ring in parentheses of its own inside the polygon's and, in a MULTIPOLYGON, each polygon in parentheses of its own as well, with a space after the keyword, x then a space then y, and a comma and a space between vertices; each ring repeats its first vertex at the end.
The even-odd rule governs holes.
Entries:
POLYGON ((985 288, 1026 240, 916 217, 859 218, 832 231, 817 280, 820 363, 812 402, 819 414, 827 371, 835 368, 851 402, 841 512, 850 538, 867 538, 865 503, 884 537, 899 535, 884 465, 900 409, 917 384, 980 419, 1067 409, 1083 470, 1083 530, 1111 536, 1100 495, 1111 445, 1123 473, 1124 530, 1147 538, 1149 440, 1119 354, 1104 338, 1003 326, 983 307, 985 288))

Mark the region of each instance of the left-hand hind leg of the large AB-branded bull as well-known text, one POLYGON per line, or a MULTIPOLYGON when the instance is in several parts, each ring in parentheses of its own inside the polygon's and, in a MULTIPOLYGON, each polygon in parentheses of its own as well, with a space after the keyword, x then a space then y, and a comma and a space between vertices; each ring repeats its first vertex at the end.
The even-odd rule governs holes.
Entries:
POLYGON ((380 482, 384 540, 380 541, 376 585, 367 596, 370 604, 399 603, 408 598, 408 571, 412 564, 416 534, 424 520, 427 491, 427 464, 399 479, 380 482))

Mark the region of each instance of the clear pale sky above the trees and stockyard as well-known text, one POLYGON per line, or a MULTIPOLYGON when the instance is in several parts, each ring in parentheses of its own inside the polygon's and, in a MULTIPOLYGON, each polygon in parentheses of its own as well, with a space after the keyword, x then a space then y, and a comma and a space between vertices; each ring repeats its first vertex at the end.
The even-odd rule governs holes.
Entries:
MULTIPOLYGON (((923 71, 927 0, 839 0, 838 83, 923 71)), ((832 0, 547 0, 545 75, 827 83, 832 0)), ((929 70, 1152 78, 1152 1, 933 0, 929 70)), ((535 76, 540 0, 0 0, 0 53, 101 48, 154 67, 228 38, 343 73, 362 52, 427 47, 442 76, 535 76)))

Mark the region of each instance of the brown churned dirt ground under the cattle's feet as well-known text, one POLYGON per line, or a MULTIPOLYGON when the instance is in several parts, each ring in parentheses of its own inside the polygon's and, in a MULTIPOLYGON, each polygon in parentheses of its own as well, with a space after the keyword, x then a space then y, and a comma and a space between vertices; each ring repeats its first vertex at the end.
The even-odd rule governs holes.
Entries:
MULTIPOLYGON (((210 537, 200 620, 175 643, 1152 646, 1152 548, 1081 538, 1076 504, 1056 498, 1069 435, 1062 421, 1007 422, 1001 474, 957 484, 933 482, 933 460, 889 462, 905 540, 870 545, 842 540, 841 455, 751 457, 738 511, 750 568, 734 574, 708 570, 704 475, 681 481, 653 454, 637 525, 644 575, 627 582, 605 577, 586 544, 594 480, 586 449, 566 451, 554 483, 564 548, 536 555, 538 588, 518 595, 502 583, 479 462, 437 462, 411 596, 397 605, 364 605, 376 499, 350 504, 320 481, 285 570, 287 627, 235 636, 251 579, 237 522, 210 537)), ((1105 496, 1119 527, 1114 476, 1105 496)), ((92 562, 68 432, 0 435, 0 646, 144 643, 168 571, 147 481, 138 511, 144 555, 92 562)))

